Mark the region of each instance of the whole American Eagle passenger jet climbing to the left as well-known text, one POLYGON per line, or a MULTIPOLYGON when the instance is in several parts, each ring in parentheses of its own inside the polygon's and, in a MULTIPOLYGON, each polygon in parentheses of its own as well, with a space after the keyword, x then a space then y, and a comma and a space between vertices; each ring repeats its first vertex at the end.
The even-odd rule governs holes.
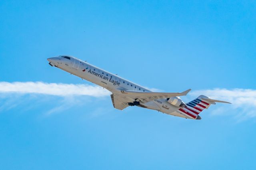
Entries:
POLYGON ((185 96, 191 89, 181 93, 152 92, 145 87, 123 79, 115 74, 100 69, 86 61, 69 55, 59 55, 47 59, 51 66, 86 79, 99 85, 112 94, 110 95, 114 108, 123 110, 129 106, 138 106, 156 110, 177 117, 200 120, 199 114, 216 103, 229 103, 214 100, 200 95, 196 99, 185 103, 179 96, 185 96))

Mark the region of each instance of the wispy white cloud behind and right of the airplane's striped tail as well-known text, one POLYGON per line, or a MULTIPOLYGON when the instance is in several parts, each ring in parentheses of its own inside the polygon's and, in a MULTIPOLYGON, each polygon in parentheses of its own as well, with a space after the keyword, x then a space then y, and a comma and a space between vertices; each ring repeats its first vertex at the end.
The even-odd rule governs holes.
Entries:
POLYGON ((191 91, 190 95, 206 95, 212 99, 231 102, 212 110, 212 115, 228 114, 238 121, 256 117, 256 90, 254 89, 208 89, 191 91))

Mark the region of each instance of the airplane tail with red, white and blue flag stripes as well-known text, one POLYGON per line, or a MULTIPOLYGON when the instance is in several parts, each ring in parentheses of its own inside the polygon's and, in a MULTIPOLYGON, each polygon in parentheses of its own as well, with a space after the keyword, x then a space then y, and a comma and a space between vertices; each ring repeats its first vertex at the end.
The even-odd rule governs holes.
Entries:
POLYGON ((186 103, 184 107, 179 109, 179 112, 189 119, 201 119, 199 113, 201 113, 204 109, 208 109, 210 105, 215 105, 215 102, 229 103, 226 101, 210 99, 209 97, 200 95, 198 98, 186 103))

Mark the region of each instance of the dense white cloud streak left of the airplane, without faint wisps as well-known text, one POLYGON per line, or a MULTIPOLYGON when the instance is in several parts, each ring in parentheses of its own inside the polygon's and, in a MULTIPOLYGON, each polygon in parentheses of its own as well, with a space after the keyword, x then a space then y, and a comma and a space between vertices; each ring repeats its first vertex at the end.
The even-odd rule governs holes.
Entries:
POLYGON ((62 97, 71 95, 102 97, 110 95, 109 91, 99 86, 44 82, 0 82, 0 93, 38 93, 62 97))

